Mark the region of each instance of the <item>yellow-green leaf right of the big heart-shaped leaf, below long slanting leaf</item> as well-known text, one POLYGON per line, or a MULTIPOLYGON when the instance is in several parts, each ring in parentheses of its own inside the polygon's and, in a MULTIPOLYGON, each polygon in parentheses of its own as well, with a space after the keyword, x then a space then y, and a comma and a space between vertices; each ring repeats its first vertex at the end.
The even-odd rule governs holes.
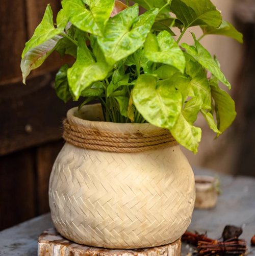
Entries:
POLYGON ((198 62, 188 61, 186 73, 191 77, 190 84, 194 95, 201 99, 201 108, 211 109, 211 88, 202 66, 198 62))

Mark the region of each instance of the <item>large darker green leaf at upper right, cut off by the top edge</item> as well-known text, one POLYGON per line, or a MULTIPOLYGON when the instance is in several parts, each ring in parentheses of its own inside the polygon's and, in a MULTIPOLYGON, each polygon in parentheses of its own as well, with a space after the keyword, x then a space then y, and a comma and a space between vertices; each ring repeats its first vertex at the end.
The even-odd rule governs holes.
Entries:
POLYGON ((182 21, 185 30, 202 25, 218 28, 222 20, 210 0, 172 0, 171 10, 182 21))

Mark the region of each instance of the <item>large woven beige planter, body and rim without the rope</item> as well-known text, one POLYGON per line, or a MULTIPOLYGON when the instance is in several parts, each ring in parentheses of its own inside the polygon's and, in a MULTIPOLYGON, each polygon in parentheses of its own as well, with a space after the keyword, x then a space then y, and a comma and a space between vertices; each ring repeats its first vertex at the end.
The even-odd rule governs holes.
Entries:
MULTIPOLYGON (((73 108, 67 119, 98 131, 162 130, 150 124, 96 122, 103 120, 100 105, 85 106, 81 113, 73 108)), ((50 176, 57 230, 89 246, 132 249, 172 243, 190 224, 194 202, 194 175, 179 146, 117 153, 66 143, 50 176)))

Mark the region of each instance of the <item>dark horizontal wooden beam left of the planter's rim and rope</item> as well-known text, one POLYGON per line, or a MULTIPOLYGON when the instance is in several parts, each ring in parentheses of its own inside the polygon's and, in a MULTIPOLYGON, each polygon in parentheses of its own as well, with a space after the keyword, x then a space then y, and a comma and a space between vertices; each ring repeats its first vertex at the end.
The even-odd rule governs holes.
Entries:
POLYGON ((54 81, 55 72, 0 86, 0 155, 61 138, 61 122, 79 102, 59 100, 54 81))

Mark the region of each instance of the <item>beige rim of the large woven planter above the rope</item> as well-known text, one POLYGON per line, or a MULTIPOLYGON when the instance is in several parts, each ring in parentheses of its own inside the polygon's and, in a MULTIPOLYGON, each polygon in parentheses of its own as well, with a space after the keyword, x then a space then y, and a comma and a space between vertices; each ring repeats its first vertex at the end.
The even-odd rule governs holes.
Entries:
POLYGON ((70 124, 82 126, 87 129, 110 131, 116 133, 151 133, 164 130, 152 124, 137 123, 111 123, 104 120, 101 104, 85 105, 78 111, 78 107, 71 108, 67 112, 67 120, 70 124))

